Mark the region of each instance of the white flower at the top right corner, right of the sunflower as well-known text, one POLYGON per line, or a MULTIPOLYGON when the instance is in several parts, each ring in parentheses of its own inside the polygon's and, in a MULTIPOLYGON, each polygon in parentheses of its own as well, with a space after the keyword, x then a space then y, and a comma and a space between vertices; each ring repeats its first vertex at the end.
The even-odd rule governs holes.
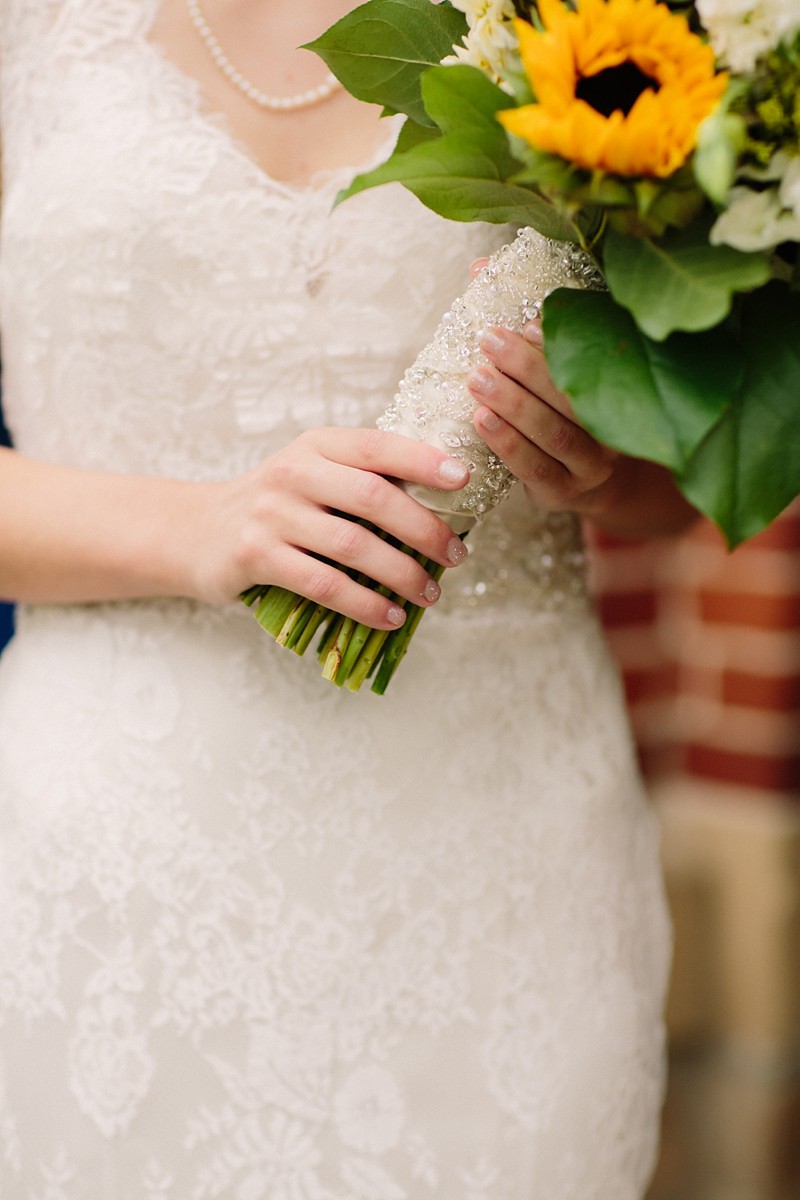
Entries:
POLYGON ((739 74, 800 30, 798 0, 697 0, 696 7, 717 58, 739 74))

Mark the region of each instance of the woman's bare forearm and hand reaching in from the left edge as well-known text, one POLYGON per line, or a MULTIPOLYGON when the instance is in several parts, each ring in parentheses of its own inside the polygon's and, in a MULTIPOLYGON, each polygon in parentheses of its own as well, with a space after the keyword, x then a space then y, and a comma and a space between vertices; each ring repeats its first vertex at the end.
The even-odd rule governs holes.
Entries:
POLYGON ((314 430, 254 470, 212 484, 84 472, 0 449, 0 596, 224 604, 253 583, 277 583, 391 629, 402 610, 318 556, 415 604, 435 602, 439 587, 408 554, 339 514, 445 566, 465 548, 390 479, 451 490, 467 472, 432 446, 378 430, 314 430))

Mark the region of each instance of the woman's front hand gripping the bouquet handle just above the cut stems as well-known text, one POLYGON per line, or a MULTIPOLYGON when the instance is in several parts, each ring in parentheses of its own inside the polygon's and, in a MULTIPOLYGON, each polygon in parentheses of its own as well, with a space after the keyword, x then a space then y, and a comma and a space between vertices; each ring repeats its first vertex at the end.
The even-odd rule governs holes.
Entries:
POLYGON ((254 470, 200 485, 206 503, 190 551, 192 592, 224 604, 252 584, 278 584, 377 629, 397 628, 397 604, 320 559, 362 571, 413 604, 434 604, 439 587, 409 554, 341 514, 455 566, 467 557, 464 544, 391 480, 455 491, 468 479, 443 451, 397 433, 311 430, 254 470))

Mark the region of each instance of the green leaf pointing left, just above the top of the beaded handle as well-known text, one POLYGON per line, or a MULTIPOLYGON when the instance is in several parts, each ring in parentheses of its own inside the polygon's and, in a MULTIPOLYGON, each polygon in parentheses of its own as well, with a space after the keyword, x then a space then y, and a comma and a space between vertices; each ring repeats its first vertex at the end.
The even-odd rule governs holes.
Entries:
POLYGON ((337 204, 369 187, 401 182, 451 221, 529 224, 546 238, 570 239, 575 230, 547 200, 505 181, 504 154, 485 134, 445 133, 357 175, 337 204))

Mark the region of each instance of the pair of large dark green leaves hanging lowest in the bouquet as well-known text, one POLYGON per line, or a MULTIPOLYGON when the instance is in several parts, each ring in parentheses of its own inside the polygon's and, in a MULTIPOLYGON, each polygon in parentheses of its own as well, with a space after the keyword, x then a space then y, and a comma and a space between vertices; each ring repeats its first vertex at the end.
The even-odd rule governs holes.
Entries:
POLYGON ((609 294, 545 304, 547 359, 579 420, 669 467, 736 546, 800 493, 800 295, 772 282, 705 332, 649 338, 609 294))

